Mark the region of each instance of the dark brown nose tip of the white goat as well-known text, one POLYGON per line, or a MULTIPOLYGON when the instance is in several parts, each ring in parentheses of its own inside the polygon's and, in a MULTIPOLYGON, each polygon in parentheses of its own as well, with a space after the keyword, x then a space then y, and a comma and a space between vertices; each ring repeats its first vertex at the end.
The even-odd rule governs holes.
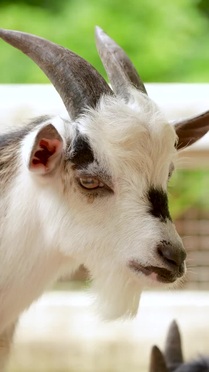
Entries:
POLYGON ((187 253, 184 247, 173 247, 168 245, 158 246, 158 253, 168 262, 180 266, 186 259, 187 253))

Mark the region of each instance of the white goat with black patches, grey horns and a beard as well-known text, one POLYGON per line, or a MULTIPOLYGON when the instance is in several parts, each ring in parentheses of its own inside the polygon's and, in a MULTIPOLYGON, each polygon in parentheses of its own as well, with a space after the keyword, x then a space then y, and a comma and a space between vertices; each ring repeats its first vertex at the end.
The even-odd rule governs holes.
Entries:
POLYGON ((49 78, 67 110, 0 137, 0 369, 14 324, 63 272, 82 263, 106 319, 134 317, 145 286, 176 285, 186 251, 168 209, 178 149, 209 112, 174 125, 148 97, 123 49, 96 27, 112 89, 83 58, 0 29, 49 78))

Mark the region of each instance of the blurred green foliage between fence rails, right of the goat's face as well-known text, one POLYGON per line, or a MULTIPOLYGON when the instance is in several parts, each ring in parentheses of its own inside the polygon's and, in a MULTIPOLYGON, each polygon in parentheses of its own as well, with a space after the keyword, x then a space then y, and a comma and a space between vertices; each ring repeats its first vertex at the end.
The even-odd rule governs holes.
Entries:
POLYGON ((191 206, 209 210, 208 199, 209 171, 178 170, 174 173, 168 186, 169 205, 175 220, 191 206))

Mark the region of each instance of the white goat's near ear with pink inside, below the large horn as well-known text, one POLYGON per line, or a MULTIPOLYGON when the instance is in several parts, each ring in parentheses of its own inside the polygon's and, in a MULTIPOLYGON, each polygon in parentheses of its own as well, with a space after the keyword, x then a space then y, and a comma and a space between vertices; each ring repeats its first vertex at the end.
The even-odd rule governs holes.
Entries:
POLYGON ((29 155, 28 169, 40 175, 50 174, 61 160, 63 141, 57 129, 47 124, 36 134, 29 155))

